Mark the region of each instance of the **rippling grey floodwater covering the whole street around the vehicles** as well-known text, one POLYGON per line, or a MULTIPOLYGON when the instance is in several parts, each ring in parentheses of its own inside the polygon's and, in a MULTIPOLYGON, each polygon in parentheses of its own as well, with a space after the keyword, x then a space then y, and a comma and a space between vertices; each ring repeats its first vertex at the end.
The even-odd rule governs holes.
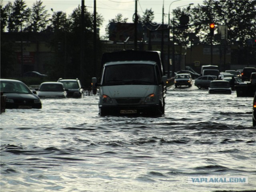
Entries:
POLYGON ((101 117, 97 95, 6 110, 1 192, 255 191, 252 101, 182 88, 160 117, 101 117))

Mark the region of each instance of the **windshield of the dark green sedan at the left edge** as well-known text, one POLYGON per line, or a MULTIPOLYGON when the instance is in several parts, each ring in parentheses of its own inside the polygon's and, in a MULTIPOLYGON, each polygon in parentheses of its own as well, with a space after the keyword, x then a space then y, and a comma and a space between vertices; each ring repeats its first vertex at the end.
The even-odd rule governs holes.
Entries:
POLYGON ((30 89, 20 82, 2 82, 0 83, 0 90, 4 93, 25 93, 32 94, 30 89))

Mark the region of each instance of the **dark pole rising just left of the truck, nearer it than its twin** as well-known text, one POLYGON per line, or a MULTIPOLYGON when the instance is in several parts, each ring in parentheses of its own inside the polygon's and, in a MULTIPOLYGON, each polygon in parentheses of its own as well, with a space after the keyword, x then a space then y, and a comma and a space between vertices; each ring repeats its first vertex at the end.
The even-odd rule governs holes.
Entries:
POLYGON ((94 14, 93 14, 93 76, 97 76, 97 25, 96 25, 96 0, 94 0, 94 14))

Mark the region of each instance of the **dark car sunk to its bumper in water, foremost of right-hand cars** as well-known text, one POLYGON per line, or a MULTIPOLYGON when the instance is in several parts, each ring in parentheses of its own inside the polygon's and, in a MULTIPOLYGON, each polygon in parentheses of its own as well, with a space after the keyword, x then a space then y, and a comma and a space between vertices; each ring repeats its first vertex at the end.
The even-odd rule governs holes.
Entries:
POLYGON ((210 94, 231 94, 231 87, 228 81, 214 80, 208 88, 210 94))

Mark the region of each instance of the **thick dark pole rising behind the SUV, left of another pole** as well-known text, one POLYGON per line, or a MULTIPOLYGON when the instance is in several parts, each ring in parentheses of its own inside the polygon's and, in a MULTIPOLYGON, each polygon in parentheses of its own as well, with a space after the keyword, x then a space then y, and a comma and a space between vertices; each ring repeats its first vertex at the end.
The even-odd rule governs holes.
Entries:
POLYGON ((84 0, 81 6, 80 80, 84 84, 84 0))

